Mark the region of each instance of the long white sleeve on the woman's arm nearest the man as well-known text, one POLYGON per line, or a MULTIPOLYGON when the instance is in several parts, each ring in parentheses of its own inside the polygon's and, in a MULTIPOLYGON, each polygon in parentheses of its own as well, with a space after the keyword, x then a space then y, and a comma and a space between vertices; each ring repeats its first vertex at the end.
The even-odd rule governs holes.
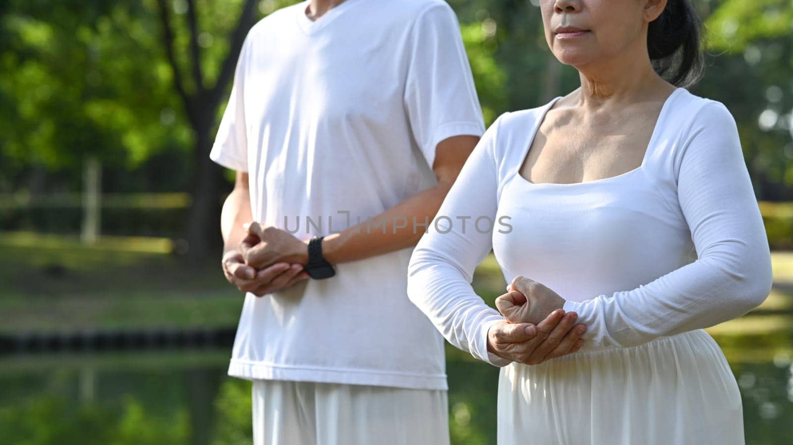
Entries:
MULTIPOLYGON (((504 115, 502 115, 504 116, 504 115)), ((471 286, 473 272, 492 249, 498 188, 496 119, 474 147, 408 264, 408 298, 457 348, 495 366, 511 360, 488 352, 488 329, 504 321, 471 286), (483 221, 489 219, 489 230, 483 221), (479 224, 477 226, 477 224, 479 224)))

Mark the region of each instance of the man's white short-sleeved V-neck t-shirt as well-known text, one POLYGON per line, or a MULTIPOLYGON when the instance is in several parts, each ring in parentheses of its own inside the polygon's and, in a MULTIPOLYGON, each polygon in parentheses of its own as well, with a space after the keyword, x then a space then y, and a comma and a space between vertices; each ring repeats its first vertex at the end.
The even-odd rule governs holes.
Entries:
MULTIPOLYGON (((436 144, 485 131, 446 2, 347 0, 317 21, 306 6, 248 33, 210 154, 249 173, 254 219, 302 240, 436 184, 436 144)), ((411 253, 247 294, 229 375, 445 390, 443 339, 408 300, 411 253)))

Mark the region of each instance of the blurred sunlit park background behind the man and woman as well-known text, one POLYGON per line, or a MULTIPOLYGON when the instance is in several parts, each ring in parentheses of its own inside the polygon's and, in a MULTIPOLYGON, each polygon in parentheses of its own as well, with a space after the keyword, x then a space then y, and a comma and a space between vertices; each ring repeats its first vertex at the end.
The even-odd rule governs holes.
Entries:
MULTIPOLYGON (((289 3, 0 1, 0 443, 251 443, 250 383, 225 375, 243 302, 220 271, 233 173, 208 154, 241 39, 289 3)), ((537 0, 450 3, 487 124, 577 87, 537 0)), ((709 332, 747 443, 791 443, 793 2, 695 6, 707 73, 691 92, 737 120, 775 280, 709 332)), ((492 257, 474 285, 502 293, 492 257)), ((498 370, 447 357, 453 443, 495 443, 498 370)))

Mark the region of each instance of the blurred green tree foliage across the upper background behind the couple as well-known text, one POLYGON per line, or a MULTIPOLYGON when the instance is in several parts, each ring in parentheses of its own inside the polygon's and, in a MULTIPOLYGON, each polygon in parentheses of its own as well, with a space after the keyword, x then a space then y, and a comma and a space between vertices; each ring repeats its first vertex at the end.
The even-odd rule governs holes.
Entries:
MULTIPOLYGON (((289 3, 263 0, 258 17, 289 3)), ((557 66, 546 48, 538 2, 450 3, 488 124, 501 112, 577 88, 577 72, 557 66)), ((211 84, 242 0, 195 4, 198 63, 203 82, 211 84)), ((167 5, 175 48, 188 48, 186 1, 167 5)), ((709 67, 691 89, 723 101, 736 116, 758 197, 791 199, 793 3, 695 0, 695 6, 706 19, 709 67)), ((155 0, 2 2, 0 192, 79 190, 85 154, 100 156, 112 173, 105 175, 105 190, 190 191, 194 135, 161 34, 155 0)), ((189 72, 188 51, 175 55, 189 72)), ((185 79, 186 89, 195 89, 191 82, 185 79)))

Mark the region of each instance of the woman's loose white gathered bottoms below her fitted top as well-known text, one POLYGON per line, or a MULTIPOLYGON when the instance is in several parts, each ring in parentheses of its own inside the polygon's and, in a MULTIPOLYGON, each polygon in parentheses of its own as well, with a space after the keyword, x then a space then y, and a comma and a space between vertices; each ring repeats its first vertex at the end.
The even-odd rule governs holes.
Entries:
POLYGON ((501 368, 498 443, 743 445, 741 394, 702 329, 501 368))

